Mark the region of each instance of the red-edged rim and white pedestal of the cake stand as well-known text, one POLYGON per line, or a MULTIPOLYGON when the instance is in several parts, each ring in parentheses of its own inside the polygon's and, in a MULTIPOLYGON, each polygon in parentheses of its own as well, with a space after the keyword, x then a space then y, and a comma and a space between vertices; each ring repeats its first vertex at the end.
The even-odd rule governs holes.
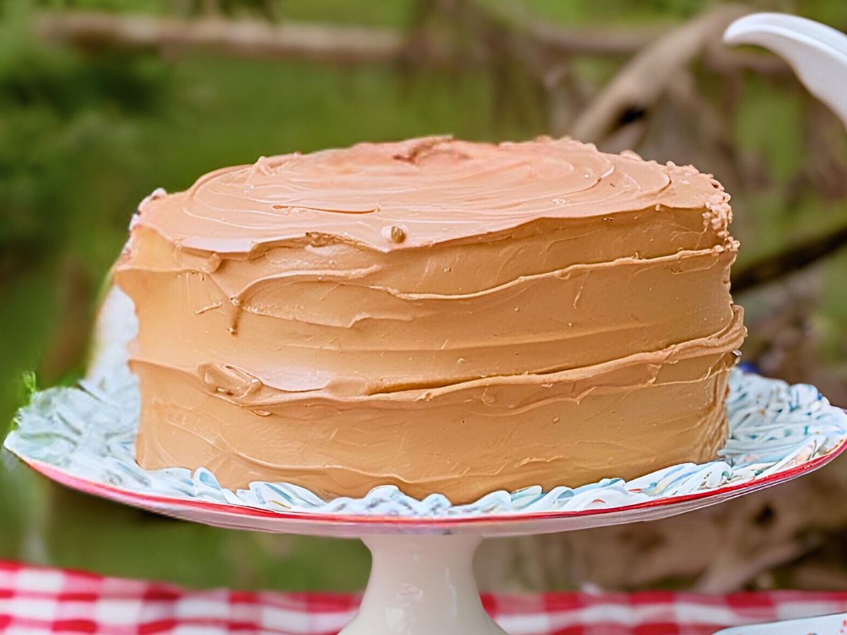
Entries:
MULTIPOLYGON (((273 512, 169 498, 88 481, 41 461, 24 460, 72 489, 186 521, 269 533, 362 538, 374 556, 373 566, 362 605, 342 635, 504 635, 507 631, 485 613, 473 577, 473 554, 483 538, 675 516, 797 478, 832 461, 845 447, 847 439, 826 455, 764 478, 624 507, 426 518, 273 512)), ((279 627, 285 629, 285 624, 279 627)))

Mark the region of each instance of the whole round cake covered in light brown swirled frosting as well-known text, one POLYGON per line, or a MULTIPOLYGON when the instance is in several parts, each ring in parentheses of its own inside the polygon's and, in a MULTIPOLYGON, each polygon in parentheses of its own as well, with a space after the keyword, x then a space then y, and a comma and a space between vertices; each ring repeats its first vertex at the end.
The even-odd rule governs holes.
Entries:
POLYGON ((711 175, 570 139, 263 157, 141 203, 141 467, 454 503, 713 459, 745 336, 711 175))

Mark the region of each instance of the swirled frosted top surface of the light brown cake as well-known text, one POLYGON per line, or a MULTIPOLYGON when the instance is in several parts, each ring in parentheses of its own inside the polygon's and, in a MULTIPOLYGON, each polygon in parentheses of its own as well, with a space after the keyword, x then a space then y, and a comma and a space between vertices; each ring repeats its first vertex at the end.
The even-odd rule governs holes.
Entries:
MULTIPOLYGON (((331 236, 379 251, 650 207, 707 209, 728 195, 690 166, 606 154, 571 139, 473 143, 434 136, 262 157, 142 203, 136 222, 188 249, 249 252, 331 236)), ((716 228, 717 229, 717 228, 716 228)))

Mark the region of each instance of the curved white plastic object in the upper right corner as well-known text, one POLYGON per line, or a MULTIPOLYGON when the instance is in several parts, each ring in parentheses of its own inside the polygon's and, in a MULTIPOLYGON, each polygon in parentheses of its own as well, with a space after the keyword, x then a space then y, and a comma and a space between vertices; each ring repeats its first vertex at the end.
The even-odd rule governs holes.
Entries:
POLYGON ((750 14, 723 33, 727 44, 755 44, 788 62, 812 95, 847 126, 847 36, 831 26, 788 14, 750 14))

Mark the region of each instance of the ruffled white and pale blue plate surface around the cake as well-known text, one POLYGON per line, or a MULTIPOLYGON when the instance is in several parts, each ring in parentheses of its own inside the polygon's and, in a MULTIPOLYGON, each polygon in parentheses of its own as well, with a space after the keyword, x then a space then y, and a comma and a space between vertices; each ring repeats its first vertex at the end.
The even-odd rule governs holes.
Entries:
POLYGON ((98 325, 103 344, 88 378, 76 387, 33 395, 15 417, 5 441, 8 450, 28 463, 138 494, 277 512, 456 518, 601 510, 726 489, 815 461, 843 449, 847 439, 847 413, 830 406, 814 387, 735 369, 727 400, 729 439, 718 460, 700 465, 684 463, 630 481, 605 478, 573 489, 497 491, 466 505, 451 505, 437 493, 417 500, 389 485, 360 499, 323 500, 291 483, 254 482, 234 491, 222 488, 205 468, 148 471, 136 463, 140 399, 125 363, 125 343, 136 329, 129 302, 123 294, 109 295, 98 325))

